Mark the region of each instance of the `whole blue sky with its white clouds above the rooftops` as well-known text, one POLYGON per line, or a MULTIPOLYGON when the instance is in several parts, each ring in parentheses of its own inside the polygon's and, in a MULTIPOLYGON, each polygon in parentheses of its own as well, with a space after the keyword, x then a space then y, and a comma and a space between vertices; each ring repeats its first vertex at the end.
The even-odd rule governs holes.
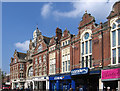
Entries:
POLYGON ((95 17, 96 23, 105 22, 114 0, 104 2, 3 2, 2 3, 2 68, 9 73, 14 50, 26 52, 33 32, 38 28, 43 35, 52 37, 56 27, 78 33, 78 25, 85 10, 95 17))

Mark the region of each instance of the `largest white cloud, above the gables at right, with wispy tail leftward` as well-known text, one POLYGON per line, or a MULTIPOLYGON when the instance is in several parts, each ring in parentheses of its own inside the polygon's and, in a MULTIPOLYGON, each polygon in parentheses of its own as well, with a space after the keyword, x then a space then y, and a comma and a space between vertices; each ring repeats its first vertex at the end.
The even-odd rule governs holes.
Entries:
POLYGON ((72 2, 73 10, 69 12, 53 11, 56 17, 77 18, 82 16, 87 10, 93 15, 105 17, 110 13, 113 2, 93 2, 93 0, 86 0, 84 2, 72 2))

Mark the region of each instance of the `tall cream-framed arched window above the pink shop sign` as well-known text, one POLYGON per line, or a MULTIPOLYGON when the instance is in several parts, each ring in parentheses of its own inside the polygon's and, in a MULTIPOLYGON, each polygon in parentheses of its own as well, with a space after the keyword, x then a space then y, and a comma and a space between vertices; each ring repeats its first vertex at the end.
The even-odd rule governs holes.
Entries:
POLYGON ((111 64, 120 63, 120 19, 111 23, 111 64))

